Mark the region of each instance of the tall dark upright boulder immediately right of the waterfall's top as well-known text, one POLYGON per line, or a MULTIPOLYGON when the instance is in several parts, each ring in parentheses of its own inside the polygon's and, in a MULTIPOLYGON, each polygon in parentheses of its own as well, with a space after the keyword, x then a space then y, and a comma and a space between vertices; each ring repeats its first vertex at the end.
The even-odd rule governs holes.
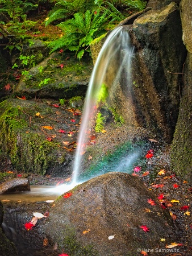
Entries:
POLYGON ((172 2, 133 22, 133 90, 137 119, 171 142, 176 126, 186 48, 180 10, 172 2))

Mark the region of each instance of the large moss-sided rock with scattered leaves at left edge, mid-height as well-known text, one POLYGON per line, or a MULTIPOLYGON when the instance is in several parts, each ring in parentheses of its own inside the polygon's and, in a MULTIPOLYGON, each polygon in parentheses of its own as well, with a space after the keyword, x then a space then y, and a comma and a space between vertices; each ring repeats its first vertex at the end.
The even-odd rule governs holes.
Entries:
POLYGON ((80 117, 72 122, 73 112, 56 106, 18 99, 1 102, 1 154, 16 171, 66 176, 72 172, 73 148, 62 141, 76 140, 80 117))

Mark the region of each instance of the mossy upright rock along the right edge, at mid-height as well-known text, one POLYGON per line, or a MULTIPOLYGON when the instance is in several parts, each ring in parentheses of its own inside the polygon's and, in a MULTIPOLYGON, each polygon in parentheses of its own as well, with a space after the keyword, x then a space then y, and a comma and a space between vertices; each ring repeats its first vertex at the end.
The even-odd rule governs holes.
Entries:
POLYGON ((184 88, 176 131, 174 133, 171 167, 176 174, 192 181, 192 54, 187 54, 184 70, 184 88))

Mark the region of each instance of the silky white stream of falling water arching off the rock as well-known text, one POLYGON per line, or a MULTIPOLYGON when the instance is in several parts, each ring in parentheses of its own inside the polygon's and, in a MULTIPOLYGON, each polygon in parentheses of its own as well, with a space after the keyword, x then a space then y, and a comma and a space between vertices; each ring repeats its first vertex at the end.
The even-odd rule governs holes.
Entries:
POLYGON ((78 175, 82 170, 82 157, 85 146, 90 140, 90 133, 93 130, 93 123, 97 114, 99 93, 103 84, 107 86, 111 93, 106 101, 111 101, 114 97, 114 87, 122 77, 126 77, 126 86, 131 85, 131 59, 133 46, 131 46, 130 36, 126 26, 115 28, 108 35, 103 47, 98 55, 93 69, 89 87, 85 98, 84 112, 80 133, 78 136, 78 146, 74 160, 73 184, 78 183, 78 175))

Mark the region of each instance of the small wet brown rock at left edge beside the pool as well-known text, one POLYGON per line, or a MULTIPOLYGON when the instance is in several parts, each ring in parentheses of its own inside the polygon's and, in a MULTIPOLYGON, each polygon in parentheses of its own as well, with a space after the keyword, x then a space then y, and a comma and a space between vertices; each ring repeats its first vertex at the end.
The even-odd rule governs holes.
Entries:
POLYGON ((0 184, 0 193, 15 191, 30 191, 30 183, 28 179, 15 178, 0 184))

